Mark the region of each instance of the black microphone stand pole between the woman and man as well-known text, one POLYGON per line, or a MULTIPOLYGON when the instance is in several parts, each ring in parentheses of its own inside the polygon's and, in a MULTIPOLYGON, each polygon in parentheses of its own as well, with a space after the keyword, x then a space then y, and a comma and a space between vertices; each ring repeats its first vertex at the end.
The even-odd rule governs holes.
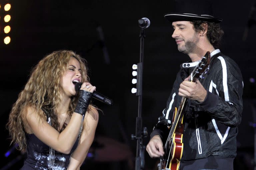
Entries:
POLYGON ((147 128, 144 127, 142 129, 142 74, 143 74, 143 55, 144 55, 144 28, 141 28, 140 32, 140 62, 137 64, 137 92, 136 96, 138 96, 138 117, 136 118, 136 133, 132 134, 132 139, 137 139, 137 150, 136 150, 136 160, 135 160, 135 170, 144 169, 145 159, 144 152, 145 146, 142 145, 142 138, 147 137, 147 128))

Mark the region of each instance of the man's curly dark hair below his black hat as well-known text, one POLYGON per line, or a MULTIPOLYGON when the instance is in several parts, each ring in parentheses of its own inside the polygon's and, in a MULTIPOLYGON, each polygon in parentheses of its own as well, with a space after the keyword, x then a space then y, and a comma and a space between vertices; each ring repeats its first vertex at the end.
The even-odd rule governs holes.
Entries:
POLYGON ((221 39, 224 34, 224 31, 220 27, 220 23, 213 23, 213 22, 207 22, 207 21, 199 21, 195 20, 191 22, 194 25, 194 29, 196 32, 204 31, 203 23, 206 23, 208 25, 207 30, 207 38, 210 41, 210 43, 213 45, 213 47, 219 48, 221 45, 221 39))

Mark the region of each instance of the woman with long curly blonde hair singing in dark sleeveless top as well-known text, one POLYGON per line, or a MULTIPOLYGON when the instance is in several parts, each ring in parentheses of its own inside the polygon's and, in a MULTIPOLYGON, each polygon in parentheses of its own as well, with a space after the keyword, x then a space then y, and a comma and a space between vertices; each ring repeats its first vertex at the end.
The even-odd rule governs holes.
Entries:
POLYGON ((54 51, 35 66, 9 115, 11 143, 27 153, 21 170, 79 170, 93 142, 98 111, 86 61, 54 51), (75 84, 83 82, 80 92, 75 84))

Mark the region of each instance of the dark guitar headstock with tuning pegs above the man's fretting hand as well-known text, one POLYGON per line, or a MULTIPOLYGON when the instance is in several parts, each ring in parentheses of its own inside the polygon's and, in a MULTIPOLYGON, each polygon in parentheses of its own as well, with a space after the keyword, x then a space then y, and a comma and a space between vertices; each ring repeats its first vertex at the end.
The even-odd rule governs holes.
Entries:
POLYGON ((211 53, 209 51, 203 56, 196 68, 192 71, 190 81, 195 82, 196 78, 204 78, 210 67, 211 53))

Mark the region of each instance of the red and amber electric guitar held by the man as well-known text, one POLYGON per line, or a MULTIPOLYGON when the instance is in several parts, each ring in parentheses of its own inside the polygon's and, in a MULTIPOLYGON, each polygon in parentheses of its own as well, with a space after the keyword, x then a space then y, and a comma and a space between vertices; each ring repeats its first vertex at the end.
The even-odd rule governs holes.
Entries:
MULTIPOLYGON (((196 79, 204 78, 209 70, 210 52, 207 51, 202 60, 198 63, 196 68, 190 74, 189 81, 195 82, 196 79)), ((160 158, 159 170, 178 170, 180 166, 180 159, 183 153, 183 116, 184 106, 187 103, 187 98, 182 97, 179 108, 175 107, 173 114, 172 125, 169 127, 170 133, 164 146, 164 155, 160 158)))

